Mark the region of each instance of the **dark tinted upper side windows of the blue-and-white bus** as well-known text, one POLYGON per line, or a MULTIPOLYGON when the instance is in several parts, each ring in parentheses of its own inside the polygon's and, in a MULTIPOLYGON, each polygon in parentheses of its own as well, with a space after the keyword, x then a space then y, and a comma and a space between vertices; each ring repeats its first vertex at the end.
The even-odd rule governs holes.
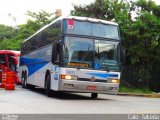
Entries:
POLYGON ((26 54, 58 40, 61 34, 61 21, 57 21, 22 44, 21 53, 26 54))

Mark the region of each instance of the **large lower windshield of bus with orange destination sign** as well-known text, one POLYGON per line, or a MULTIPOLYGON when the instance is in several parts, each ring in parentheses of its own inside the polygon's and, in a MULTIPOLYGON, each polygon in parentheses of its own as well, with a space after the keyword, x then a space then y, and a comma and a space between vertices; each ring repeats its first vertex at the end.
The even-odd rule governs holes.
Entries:
POLYGON ((65 37, 63 46, 64 66, 118 71, 118 43, 89 38, 65 37))

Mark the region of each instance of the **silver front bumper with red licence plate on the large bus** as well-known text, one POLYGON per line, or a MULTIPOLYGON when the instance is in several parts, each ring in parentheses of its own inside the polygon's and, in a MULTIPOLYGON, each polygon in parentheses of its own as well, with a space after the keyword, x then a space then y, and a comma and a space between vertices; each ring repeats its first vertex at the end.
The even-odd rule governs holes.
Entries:
POLYGON ((59 91, 117 94, 118 90, 118 83, 60 80, 59 84, 59 91))

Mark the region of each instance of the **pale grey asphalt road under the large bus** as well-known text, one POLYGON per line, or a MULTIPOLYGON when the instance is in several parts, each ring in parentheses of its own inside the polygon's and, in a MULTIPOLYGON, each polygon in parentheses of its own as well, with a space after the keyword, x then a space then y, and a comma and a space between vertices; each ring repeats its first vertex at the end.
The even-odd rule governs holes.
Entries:
POLYGON ((63 93, 48 98, 43 89, 0 89, 0 114, 144 114, 160 113, 160 98, 63 93))

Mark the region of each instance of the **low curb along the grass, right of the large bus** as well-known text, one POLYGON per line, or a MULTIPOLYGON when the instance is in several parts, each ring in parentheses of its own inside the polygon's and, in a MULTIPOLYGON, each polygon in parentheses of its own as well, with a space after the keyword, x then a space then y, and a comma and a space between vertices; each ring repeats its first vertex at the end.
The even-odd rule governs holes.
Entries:
POLYGON ((120 96, 148 97, 148 98, 160 98, 160 94, 118 93, 117 95, 120 95, 120 96))

